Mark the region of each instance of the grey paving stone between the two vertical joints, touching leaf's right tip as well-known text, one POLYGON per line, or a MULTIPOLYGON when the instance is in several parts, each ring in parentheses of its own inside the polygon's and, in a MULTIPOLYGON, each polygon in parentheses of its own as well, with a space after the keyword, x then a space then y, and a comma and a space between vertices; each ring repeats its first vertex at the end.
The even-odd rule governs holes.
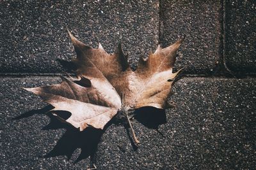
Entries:
POLYGON ((186 37, 176 67, 189 74, 213 74, 221 57, 221 1, 160 1, 163 47, 186 37))

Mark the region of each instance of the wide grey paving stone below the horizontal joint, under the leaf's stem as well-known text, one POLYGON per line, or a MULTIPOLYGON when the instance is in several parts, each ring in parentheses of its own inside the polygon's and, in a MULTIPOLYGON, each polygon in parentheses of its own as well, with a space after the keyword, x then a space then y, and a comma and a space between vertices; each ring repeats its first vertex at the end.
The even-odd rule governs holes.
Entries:
POLYGON ((36 111, 47 104, 21 89, 57 83, 60 78, 2 77, 0 169, 85 169, 96 141, 99 146, 92 160, 98 169, 253 169, 255 81, 182 78, 168 101, 175 108, 166 114, 144 110, 132 120, 141 141, 136 149, 115 118, 101 139, 101 131, 77 132, 36 111), (82 160, 73 163, 80 153, 82 160))

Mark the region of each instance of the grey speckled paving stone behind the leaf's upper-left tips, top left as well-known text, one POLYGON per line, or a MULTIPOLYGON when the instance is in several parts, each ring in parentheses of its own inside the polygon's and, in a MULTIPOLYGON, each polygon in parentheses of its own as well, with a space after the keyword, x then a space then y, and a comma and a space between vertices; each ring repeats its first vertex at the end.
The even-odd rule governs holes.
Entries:
POLYGON ((79 40, 138 60, 157 47, 158 1, 1 1, 0 73, 56 73, 56 59, 75 57, 67 29, 79 40))

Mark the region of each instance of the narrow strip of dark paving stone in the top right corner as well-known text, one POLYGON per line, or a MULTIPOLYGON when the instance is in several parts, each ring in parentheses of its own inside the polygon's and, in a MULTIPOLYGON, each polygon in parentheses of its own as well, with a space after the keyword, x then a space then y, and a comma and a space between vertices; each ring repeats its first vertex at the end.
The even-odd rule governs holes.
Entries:
POLYGON ((227 67, 237 73, 256 73, 256 2, 225 2, 227 67))

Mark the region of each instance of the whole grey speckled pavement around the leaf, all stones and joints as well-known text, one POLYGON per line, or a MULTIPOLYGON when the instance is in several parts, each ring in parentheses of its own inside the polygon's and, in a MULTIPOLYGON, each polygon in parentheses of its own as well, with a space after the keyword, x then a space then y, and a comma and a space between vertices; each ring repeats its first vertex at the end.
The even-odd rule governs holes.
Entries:
POLYGON ((255 10, 236 0, 1 1, 0 169, 254 169, 255 10), (78 132, 22 89, 60 82, 59 60, 76 56, 67 28, 109 53, 122 40, 133 67, 186 36, 173 108, 132 120, 138 148, 116 118, 104 131, 78 132))

